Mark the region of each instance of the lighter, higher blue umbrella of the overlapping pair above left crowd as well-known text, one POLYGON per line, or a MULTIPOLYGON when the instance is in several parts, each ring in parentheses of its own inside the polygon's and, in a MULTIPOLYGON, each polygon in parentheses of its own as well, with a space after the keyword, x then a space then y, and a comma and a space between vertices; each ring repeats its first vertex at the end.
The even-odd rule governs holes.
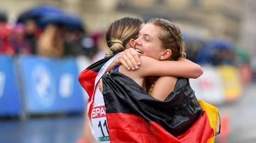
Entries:
POLYGON ((24 23, 28 19, 33 19, 38 23, 40 18, 42 18, 44 16, 59 15, 62 13, 63 13, 63 11, 59 8, 49 6, 49 5, 42 5, 39 7, 32 8, 32 9, 27 10, 24 13, 22 13, 18 17, 17 22, 24 23))

